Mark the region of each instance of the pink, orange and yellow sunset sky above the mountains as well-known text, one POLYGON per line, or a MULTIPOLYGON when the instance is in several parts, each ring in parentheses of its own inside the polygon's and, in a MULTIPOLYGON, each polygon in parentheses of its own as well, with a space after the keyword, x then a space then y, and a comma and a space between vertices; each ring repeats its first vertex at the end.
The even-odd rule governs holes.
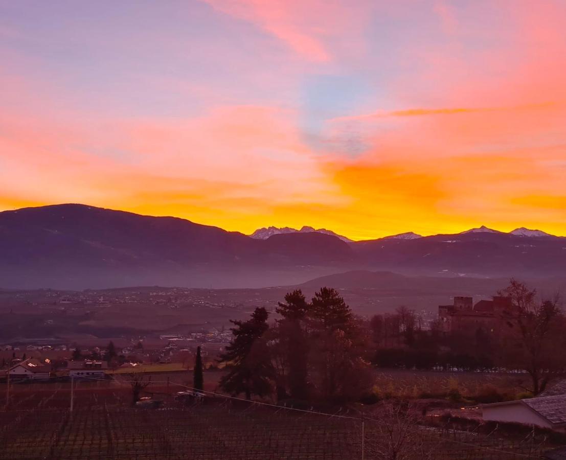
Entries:
POLYGON ((0 210, 566 235, 563 0, 0 0, 0 210))

